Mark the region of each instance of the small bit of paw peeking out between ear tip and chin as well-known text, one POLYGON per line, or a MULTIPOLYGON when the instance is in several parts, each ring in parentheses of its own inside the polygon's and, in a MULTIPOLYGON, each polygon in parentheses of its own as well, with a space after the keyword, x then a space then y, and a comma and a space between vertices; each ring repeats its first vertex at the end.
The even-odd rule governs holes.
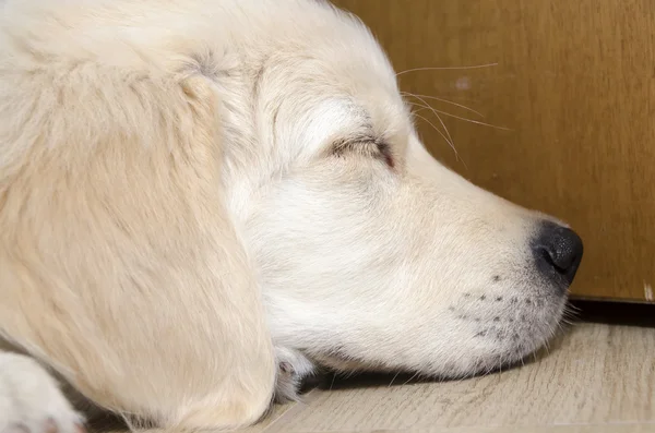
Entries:
POLYGON ((275 401, 297 401, 302 380, 314 372, 313 363, 297 350, 276 347, 275 401))

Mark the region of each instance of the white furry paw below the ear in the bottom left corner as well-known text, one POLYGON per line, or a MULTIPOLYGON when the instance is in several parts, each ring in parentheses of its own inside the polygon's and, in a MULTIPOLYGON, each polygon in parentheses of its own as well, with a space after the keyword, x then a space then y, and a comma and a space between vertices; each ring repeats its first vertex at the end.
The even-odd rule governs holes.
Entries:
POLYGON ((41 365, 0 352, 0 433, 83 433, 83 422, 41 365))

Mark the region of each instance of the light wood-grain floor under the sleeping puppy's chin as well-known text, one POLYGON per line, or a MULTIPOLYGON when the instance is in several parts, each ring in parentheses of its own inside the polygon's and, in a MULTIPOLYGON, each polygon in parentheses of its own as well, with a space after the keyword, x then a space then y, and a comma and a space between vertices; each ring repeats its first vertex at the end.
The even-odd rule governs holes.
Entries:
POLYGON ((655 432, 655 328, 580 324, 549 354, 486 377, 314 389, 245 432, 655 432))

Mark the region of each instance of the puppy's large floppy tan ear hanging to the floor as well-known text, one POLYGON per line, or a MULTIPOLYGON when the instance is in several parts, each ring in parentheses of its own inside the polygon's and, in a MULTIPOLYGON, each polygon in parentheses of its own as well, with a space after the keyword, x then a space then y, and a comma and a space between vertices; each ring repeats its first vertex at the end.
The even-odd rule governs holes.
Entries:
POLYGON ((255 421, 275 363, 223 204, 211 80, 193 52, 148 63, 166 47, 130 53, 76 33, 75 11, 19 12, 0 26, 0 334, 108 409, 255 421))

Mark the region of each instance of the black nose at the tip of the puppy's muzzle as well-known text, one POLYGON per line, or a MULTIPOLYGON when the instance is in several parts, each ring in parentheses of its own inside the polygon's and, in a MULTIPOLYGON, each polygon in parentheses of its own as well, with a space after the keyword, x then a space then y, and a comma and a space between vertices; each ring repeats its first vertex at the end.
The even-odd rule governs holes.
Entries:
POLYGON ((582 252, 582 239, 575 231, 550 221, 541 224, 533 242, 537 268, 564 290, 575 277, 582 252))

